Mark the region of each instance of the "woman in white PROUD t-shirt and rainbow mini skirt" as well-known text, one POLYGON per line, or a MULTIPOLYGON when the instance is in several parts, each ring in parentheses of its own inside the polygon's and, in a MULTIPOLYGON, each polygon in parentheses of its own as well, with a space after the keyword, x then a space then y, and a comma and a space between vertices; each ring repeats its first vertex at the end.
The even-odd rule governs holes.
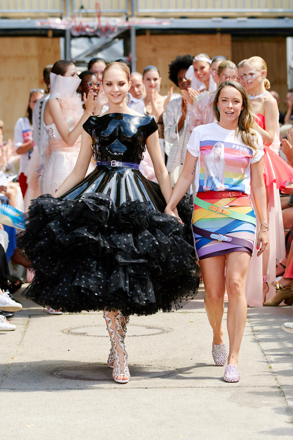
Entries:
POLYGON ((247 314, 245 281, 256 229, 250 187, 261 221, 257 235, 258 256, 268 244, 262 172, 264 151, 246 91, 240 84, 228 80, 219 86, 213 113, 216 122, 200 125, 192 131, 184 169, 165 212, 176 215, 174 208, 195 180, 197 194, 192 229, 206 291, 206 313, 213 329, 212 356, 217 366, 224 366, 228 360, 224 380, 237 382, 240 377, 237 369, 239 348, 247 314), (217 172, 222 160, 224 179, 219 187, 204 188, 205 158, 216 145, 221 146, 221 151, 212 165, 217 172), (228 357, 222 327, 225 282, 229 298, 228 357))

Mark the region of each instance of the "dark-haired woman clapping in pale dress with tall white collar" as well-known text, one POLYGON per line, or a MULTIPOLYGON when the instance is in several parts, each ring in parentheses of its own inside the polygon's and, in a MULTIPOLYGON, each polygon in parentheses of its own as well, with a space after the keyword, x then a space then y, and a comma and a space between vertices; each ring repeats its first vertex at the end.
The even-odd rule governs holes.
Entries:
MULTIPOLYGON (((95 109, 93 91, 85 101, 86 110, 76 89, 80 85, 76 66, 66 60, 55 62, 50 73, 51 94, 44 110, 48 148, 44 152, 40 178, 41 194, 54 194, 72 172, 80 152, 83 124, 95 109)), ((94 170, 90 163, 88 173, 94 170)))

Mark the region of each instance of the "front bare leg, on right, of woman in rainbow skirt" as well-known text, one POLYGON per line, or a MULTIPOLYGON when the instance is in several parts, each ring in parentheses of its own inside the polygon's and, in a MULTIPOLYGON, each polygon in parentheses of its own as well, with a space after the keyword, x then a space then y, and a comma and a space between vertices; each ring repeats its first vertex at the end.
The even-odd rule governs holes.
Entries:
POLYGON ((250 254, 246 252, 232 252, 226 255, 226 285, 229 298, 227 312, 228 364, 235 365, 235 367, 237 367, 239 349, 246 323, 245 280, 249 261, 250 254))

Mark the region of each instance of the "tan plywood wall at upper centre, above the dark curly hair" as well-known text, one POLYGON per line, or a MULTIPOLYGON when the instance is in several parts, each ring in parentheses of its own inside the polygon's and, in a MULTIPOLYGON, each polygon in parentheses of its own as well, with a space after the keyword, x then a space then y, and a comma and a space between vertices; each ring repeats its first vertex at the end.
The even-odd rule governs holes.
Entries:
MULTIPOLYGON (((162 77, 160 94, 165 95, 171 85, 168 78, 169 64, 177 55, 196 55, 200 52, 209 54, 212 58, 224 55, 231 59, 230 34, 165 34, 152 35, 149 31, 136 38, 137 71, 143 72, 146 66, 152 64, 158 67, 162 77)), ((180 92, 174 87, 174 92, 180 92)))

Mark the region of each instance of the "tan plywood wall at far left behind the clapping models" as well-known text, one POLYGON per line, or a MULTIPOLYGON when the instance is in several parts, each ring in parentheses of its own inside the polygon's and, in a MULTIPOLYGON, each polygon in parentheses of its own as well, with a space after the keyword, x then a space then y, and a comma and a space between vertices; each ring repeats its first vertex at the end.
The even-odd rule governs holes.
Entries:
POLYGON ((43 68, 60 59, 59 38, 0 37, 0 119, 4 140, 13 138, 14 125, 25 115, 29 91, 43 88, 43 68))

